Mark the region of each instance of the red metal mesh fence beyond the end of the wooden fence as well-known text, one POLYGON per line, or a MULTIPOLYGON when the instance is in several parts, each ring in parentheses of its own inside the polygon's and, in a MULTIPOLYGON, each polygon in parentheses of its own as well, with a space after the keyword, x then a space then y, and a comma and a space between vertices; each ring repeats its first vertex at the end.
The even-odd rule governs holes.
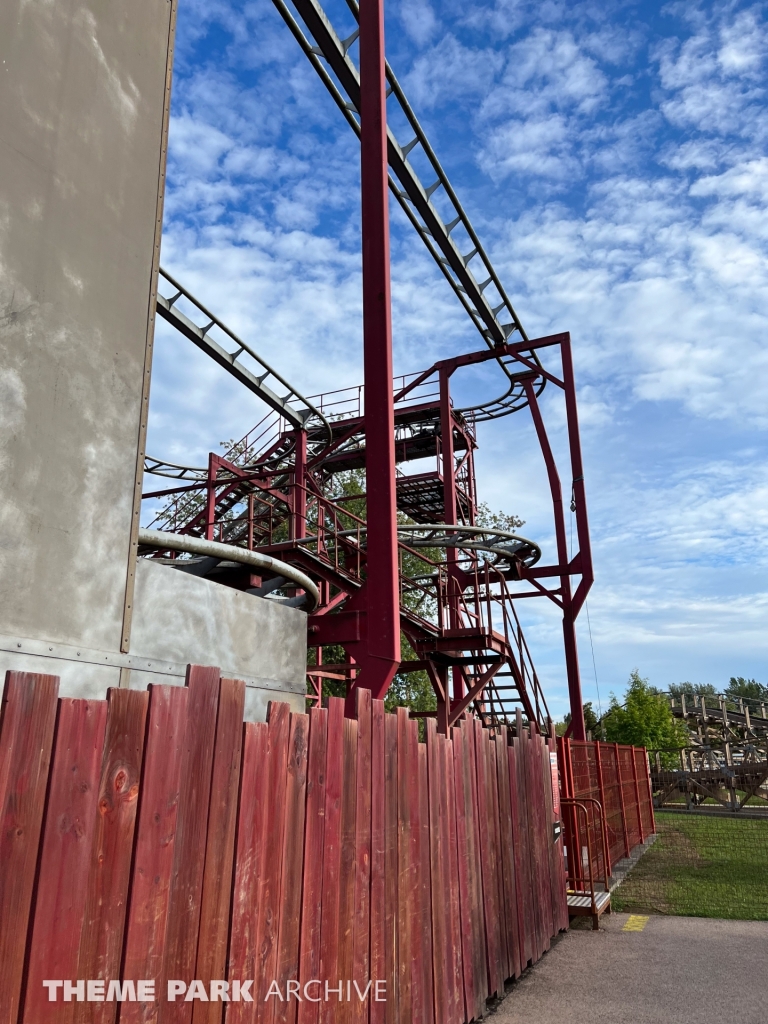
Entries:
MULTIPOLYGON (((563 797, 584 801, 588 808, 587 823, 579 828, 589 830, 593 874, 609 878, 613 865, 655 831, 645 748, 560 738, 558 763, 563 797), (591 802, 597 802, 600 810, 591 802)), ((577 869, 574 861, 581 864, 587 856, 587 842, 584 837, 569 835, 568 815, 563 823, 565 845, 569 854, 573 851, 568 863, 570 876, 577 869)))

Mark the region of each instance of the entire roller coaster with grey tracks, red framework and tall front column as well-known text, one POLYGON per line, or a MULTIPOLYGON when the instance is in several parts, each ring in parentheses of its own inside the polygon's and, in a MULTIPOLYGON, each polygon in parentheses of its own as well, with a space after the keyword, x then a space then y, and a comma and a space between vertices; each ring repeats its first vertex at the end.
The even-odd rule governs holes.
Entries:
MULTIPOLYGON (((158 312, 270 409, 225 455, 204 468, 147 458, 145 470, 174 478, 144 498, 167 503, 151 526, 178 537, 245 548, 292 567, 257 570, 213 555, 164 558, 258 598, 309 610, 308 698, 323 680, 382 697, 395 673, 426 671, 438 729, 462 715, 510 721, 515 708, 544 732, 546 700, 515 601, 546 597, 562 613, 570 735, 585 738, 575 620, 592 585, 592 559, 570 339, 529 339, 416 115, 384 58, 382 0, 347 0, 355 26, 335 31, 316 0, 273 0, 342 114, 360 138, 365 384, 305 398, 170 274, 161 271, 158 312), (299 20, 300 19, 300 20, 299 20), (352 59, 358 43, 359 67, 352 59), (400 143, 387 104, 414 137, 400 143), (389 119, 391 121, 391 117, 389 119), (417 159, 418 157, 418 159, 417 159), (424 185, 419 167, 435 179, 424 185), (480 351, 394 378, 389 283, 388 189, 435 258, 481 335, 480 351), (503 391, 472 408, 452 400, 452 378, 494 360, 503 391), (570 510, 578 550, 568 553, 561 473, 540 395, 562 391, 570 510), (532 541, 478 522, 477 426, 527 410, 547 470, 556 557, 543 564, 532 541), (424 460, 431 460, 424 471, 424 460), (356 484, 365 470, 365 493, 356 484), (355 472, 356 471, 356 472, 355 472), (316 585, 315 607, 306 589, 316 585), (572 588, 571 578, 578 585, 572 588), (311 602, 309 602, 311 603, 311 602), (414 651, 402 659, 400 637, 414 651), (343 651, 330 664, 329 651, 343 651)), ((194 545, 191 545, 194 547, 194 545)), ((198 543, 198 548, 200 544, 198 543)), ((214 549, 211 549, 214 550, 214 549)), ((268 559, 265 560, 268 562, 268 559)), ((333 654, 332 654, 333 657, 333 654)))

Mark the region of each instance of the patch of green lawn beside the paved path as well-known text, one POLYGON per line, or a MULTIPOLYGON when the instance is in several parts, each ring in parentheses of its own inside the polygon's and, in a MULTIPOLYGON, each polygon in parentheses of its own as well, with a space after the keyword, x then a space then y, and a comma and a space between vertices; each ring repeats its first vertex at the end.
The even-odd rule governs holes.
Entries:
POLYGON ((656 831, 614 910, 768 921, 768 821, 659 811, 656 831))

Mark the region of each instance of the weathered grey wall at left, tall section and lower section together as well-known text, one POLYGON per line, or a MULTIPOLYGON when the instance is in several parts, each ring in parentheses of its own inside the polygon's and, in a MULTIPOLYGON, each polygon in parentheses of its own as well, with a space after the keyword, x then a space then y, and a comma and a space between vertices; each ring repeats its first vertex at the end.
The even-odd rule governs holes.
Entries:
POLYGON ((263 717, 278 685, 303 710, 302 612, 143 564, 130 597, 173 27, 0 3, 0 671, 103 696, 218 663, 263 717))

